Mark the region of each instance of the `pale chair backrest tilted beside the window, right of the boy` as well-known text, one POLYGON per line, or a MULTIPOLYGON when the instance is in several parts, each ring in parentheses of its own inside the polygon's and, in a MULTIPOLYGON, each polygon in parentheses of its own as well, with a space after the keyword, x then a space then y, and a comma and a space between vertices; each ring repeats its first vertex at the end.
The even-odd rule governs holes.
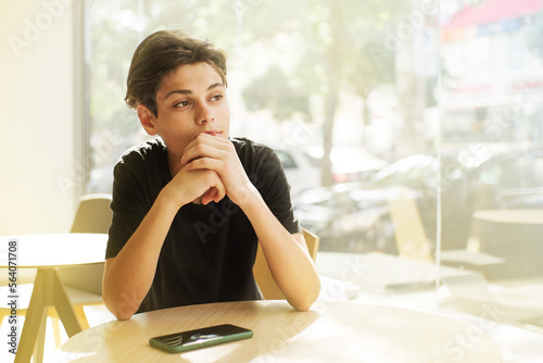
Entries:
POLYGON ((389 208, 397 254, 413 260, 433 261, 430 241, 426 236, 413 191, 408 188, 397 188, 394 198, 389 199, 389 208))

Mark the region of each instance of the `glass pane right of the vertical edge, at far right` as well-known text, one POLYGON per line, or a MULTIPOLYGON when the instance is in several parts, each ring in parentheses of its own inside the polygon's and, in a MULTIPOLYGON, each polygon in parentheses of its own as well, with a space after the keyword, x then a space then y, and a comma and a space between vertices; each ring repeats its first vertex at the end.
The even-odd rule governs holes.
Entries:
POLYGON ((542 4, 445 3, 442 162, 462 192, 442 193, 441 262, 471 275, 443 268, 442 305, 541 331, 542 4))

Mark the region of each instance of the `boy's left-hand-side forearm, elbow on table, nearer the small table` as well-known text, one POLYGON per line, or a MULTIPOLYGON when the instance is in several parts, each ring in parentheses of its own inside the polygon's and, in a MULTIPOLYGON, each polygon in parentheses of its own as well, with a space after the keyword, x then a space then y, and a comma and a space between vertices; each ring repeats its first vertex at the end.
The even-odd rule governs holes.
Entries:
POLYGON ((118 320, 130 318, 147 296, 176 212, 177 209, 159 196, 117 256, 106 262, 103 300, 118 320))

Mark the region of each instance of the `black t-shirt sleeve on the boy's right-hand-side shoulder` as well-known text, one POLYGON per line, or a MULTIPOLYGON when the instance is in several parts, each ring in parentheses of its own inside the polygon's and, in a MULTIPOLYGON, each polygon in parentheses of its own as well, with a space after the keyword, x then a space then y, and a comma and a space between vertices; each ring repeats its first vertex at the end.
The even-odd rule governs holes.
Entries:
POLYGON ((255 187, 277 220, 291 234, 302 233, 302 228, 294 215, 294 208, 290 198, 290 186, 279 157, 270 148, 260 151, 257 158, 257 175, 255 187))

